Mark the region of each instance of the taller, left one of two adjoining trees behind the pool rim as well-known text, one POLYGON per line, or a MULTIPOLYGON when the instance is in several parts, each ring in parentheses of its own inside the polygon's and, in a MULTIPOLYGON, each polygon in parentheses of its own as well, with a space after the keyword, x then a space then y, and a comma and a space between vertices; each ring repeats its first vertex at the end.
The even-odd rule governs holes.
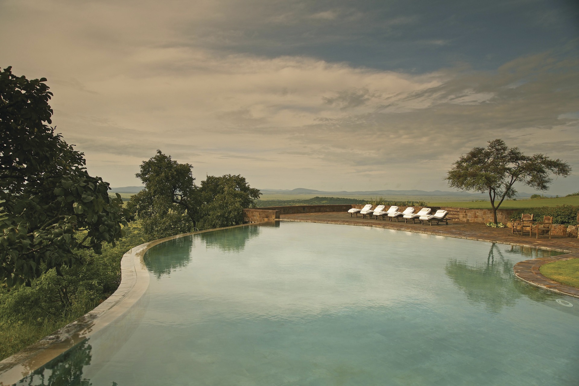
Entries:
POLYGON ((148 240, 190 232, 196 227, 199 188, 190 164, 179 164, 157 150, 136 174, 145 189, 131 197, 129 208, 142 220, 148 240))

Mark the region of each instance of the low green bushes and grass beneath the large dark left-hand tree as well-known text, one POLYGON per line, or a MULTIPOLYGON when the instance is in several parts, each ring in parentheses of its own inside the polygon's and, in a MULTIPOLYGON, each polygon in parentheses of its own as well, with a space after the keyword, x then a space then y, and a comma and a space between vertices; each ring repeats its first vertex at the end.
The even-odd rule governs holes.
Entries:
POLYGON ((114 247, 105 244, 101 255, 75 252, 83 264, 63 267, 62 276, 50 269, 30 287, 0 289, 0 359, 86 314, 116 291, 123 254, 144 242, 138 224, 124 231, 126 236, 114 247))

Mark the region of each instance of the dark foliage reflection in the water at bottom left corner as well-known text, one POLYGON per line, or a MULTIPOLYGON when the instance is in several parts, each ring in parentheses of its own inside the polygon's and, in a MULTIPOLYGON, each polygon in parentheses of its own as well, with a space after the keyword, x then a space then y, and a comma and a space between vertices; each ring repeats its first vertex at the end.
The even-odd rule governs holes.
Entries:
POLYGON ((82 377, 84 366, 90 365, 91 346, 88 340, 57 356, 46 365, 25 377, 17 386, 91 386, 82 377))

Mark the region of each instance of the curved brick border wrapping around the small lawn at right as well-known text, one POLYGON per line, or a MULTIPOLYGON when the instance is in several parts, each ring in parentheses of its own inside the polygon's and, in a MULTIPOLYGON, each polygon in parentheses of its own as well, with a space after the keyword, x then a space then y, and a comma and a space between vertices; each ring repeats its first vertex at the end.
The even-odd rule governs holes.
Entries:
POLYGON ((512 270, 515 272, 516 277, 531 285, 562 295, 579 298, 579 288, 553 281, 540 272, 540 268, 544 264, 570 259, 579 259, 579 253, 566 253, 565 255, 551 256, 548 258, 525 260, 516 263, 512 270))

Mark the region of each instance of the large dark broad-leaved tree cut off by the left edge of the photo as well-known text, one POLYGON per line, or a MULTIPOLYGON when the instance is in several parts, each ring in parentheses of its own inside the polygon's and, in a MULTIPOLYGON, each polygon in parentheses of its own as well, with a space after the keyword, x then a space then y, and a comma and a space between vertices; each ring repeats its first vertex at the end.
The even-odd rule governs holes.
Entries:
POLYGON ((0 285, 30 285, 42 271, 82 264, 75 249, 100 253, 131 220, 109 184, 91 177, 84 154, 49 127, 45 78, 0 72, 0 285), (81 238, 75 237, 78 231, 81 238))

